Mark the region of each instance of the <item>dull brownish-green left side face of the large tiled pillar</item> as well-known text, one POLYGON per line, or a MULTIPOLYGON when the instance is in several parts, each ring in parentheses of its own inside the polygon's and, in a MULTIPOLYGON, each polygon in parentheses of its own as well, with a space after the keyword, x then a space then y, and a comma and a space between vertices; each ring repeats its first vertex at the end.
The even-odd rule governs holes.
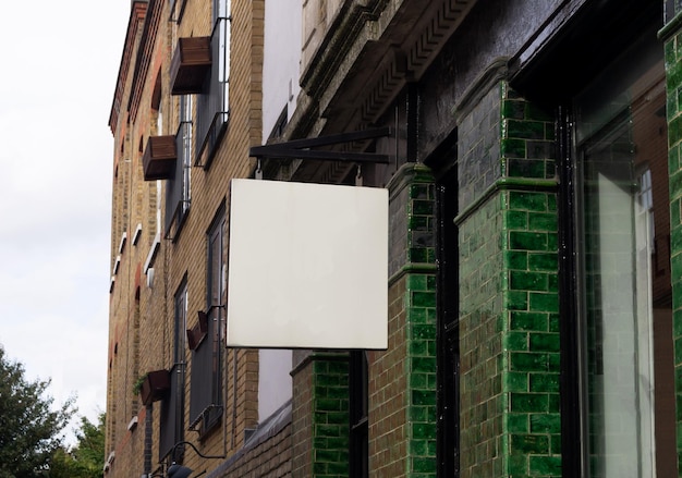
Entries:
POLYGON ((499 477, 503 464, 502 215, 499 196, 460 224, 462 477, 499 477))

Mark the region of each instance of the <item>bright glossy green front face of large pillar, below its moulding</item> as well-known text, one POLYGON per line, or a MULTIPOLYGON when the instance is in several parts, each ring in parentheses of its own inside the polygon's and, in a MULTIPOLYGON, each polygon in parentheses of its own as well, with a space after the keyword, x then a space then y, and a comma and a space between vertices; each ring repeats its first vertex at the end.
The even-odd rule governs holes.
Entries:
POLYGON ((553 192, 506 191, 502 390, 509 476, 561 476, 557 208, 553 192))

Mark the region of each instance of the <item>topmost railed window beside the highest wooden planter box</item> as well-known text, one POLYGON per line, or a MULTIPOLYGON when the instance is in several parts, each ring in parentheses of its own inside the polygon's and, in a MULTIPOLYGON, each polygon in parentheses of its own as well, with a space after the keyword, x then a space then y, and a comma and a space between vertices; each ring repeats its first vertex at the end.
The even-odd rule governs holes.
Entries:
POLYGON ((197 95, 196 164, 208 169, 229 118, 230 0, 214 0, 214 32, 210 39, 211 69, 208 86, 197 95))

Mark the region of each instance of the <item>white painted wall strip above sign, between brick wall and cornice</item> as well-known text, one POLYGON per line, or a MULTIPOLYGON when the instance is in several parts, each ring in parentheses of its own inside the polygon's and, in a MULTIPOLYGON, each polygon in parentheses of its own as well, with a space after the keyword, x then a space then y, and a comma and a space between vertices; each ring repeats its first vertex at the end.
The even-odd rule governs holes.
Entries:
POLYGON ((266 0, 263 64, 263 142, 288 106, 291 118, 299 86, 302 35, 302 0, 266 0))

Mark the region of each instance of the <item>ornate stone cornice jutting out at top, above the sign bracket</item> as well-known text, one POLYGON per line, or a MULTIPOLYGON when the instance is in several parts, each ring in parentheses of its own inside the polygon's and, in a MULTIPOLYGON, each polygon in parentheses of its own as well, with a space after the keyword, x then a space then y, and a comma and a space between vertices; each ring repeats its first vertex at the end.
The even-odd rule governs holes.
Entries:
POLYGON ((422 77, 475 3, 344 2, 301 81, 326 128, 376 124, 404 85, 422 77))

